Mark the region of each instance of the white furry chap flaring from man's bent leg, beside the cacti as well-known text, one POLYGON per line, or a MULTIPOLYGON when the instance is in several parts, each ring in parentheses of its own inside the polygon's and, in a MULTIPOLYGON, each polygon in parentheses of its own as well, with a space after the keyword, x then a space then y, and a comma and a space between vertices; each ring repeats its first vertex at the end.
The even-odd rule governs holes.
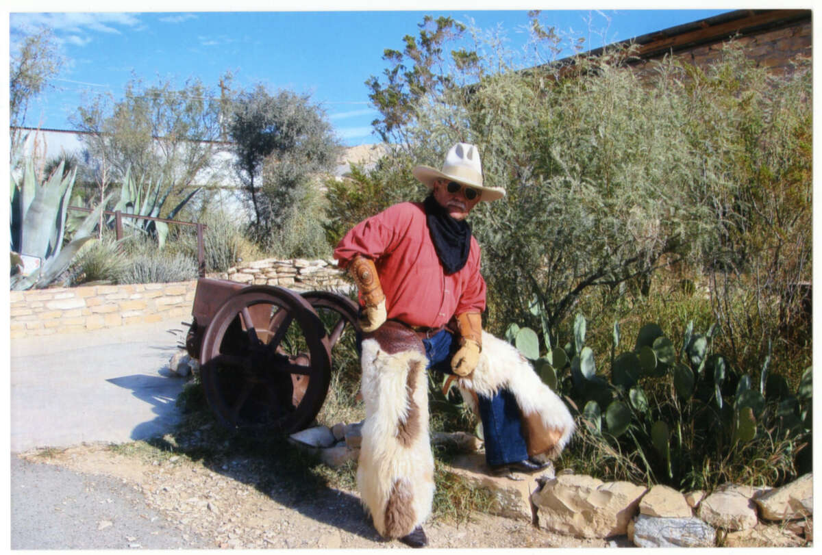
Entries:
POLYGON ((515 346, 483 332, 483 351, 477 368, 457 381, 463 399, 479 415, 473 393, 492 397, 502 388, 514 394, 522 412, 522 431, 528 454, 535 459, 553 458, 562 452, 574 433, 574 417, 533 370, 515 346))

